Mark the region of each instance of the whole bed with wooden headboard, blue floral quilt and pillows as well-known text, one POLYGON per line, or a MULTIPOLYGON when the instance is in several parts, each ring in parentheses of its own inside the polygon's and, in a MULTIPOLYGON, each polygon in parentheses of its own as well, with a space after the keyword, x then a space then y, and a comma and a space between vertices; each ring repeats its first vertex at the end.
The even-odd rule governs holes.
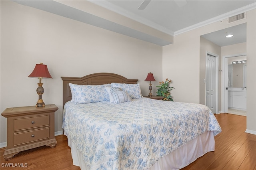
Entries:
POLYGON ((221 128, 204 105, 142 97, 138 79, 114 73, 61 78, 62 127, 82 170, 176 170, 215 149, 221 128))

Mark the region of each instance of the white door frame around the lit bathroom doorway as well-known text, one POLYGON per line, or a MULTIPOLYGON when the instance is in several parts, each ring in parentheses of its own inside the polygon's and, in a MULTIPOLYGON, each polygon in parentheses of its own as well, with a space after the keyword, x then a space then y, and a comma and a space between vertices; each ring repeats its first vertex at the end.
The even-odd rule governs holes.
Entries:
MULTIPOLYGON (((226 82, 228 78, 226 77, 226 72, 228 71, 228 63, 225 63, 226 58, 229 57, 239 57, 244 56, 246 53, 233 54, 233 55, 224 55, 222 56, 222 83, 221 83, 221 101, 222 101, 222 113, 227 113, 228 111, 228 92, 226 91, 226 82)), ((227 86, 228 87, 228 86, 227 86)))

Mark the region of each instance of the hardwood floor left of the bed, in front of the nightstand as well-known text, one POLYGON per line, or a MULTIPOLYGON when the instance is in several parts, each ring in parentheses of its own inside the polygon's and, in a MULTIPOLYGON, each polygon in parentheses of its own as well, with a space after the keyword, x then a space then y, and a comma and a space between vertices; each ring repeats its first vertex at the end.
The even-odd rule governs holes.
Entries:
POLYGON ((4 149, 1 148, 1 170, 80 170, 80 167, 74 166, 70 153, 70 147, 67 145, 65 135, 55 136, 57 145, 55 148, 41 146, 38 148, 25 150, 16 154, 11 160, 5 161, 3 158, 4 149), (27 167, 3 167, 4 164, 15 166, 22 164, 27 167))

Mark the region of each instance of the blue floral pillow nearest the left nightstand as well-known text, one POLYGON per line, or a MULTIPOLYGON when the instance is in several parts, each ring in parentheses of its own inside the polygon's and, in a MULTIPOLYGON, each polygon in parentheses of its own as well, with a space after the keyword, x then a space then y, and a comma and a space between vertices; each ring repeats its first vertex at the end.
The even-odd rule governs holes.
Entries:
POLYGON ((94 103, 100 101, 108 101, 108 92, 105 87, 110 87, 110 84, 105 85, 76 85, 68 83, 72 102, 74 103, 94 103))

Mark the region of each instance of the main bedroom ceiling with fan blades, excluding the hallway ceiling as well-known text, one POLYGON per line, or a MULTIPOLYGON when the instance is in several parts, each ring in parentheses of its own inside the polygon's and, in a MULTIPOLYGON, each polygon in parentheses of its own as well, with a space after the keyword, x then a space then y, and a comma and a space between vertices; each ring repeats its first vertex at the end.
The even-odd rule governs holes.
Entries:
POLYGON ((144 10, 138 10, 143 0, 92 0, 91 2, 167 34, 174 35, 190 26, 248 6, 256 1, 151 0, 144 10), (180 1, 186 4, 179 7, 177 3, 180 1))

